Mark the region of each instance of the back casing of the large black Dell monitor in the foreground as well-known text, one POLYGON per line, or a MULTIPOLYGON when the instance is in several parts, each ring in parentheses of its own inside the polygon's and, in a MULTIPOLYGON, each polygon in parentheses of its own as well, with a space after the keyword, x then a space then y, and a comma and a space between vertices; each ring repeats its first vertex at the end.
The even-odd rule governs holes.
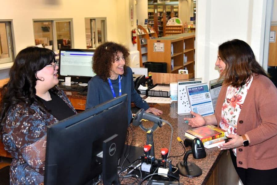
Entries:
MULTIPOLYGON (((82 113, 78 113, 74 116, 66 118, 62 121, 59 121, 56 124, 47 126, 47 142, 46 142, 46 162, 45 162, 45 176, 44 176, 44 183, 47 184, 61 184, 60 181, 66 181, 66 178, 74 178, 74 180, 78 180, 78 183, 82 181, 84 184, 90 184, 92 182, 92 178, 95 177, 95 174, 99 174, 102 172, 102 166, 94 166, 96 158, 94 148, 96 147, 98 153, 98 148, 102 145, 102 141, 107 139, 113 134, 118 134, 120 137, 120 145, 118 146, 118 153, 116 154, 116 158, 120 158, 122 155, 122 151, 124 148, 124 143, 126 140, 126 132, 128 128, 128 111, 127 111, 127 94, 123 94, 120 97, 116 97, 110 101, 106 101, 100 105, 97 105, 91 109, 88 109, 82 113), (117 106, 119 105, 119 106, 117 106), (111 121, 111 117, 106 116, 105 112, 108 111, 114 114, 120 114, 120 116, 116 116, 111 121), (120 112, 120 113, 117 113, 120 112), (122 116, 122 113, 125 113, 125 117, 122 116), (94 118, 96 119, 94 119, 94 118), (98 118, 97 118, 98 117, 98 118), (95 120, 99 120, 100 118, 102 122, 95 122, 95 120), (91 119, 94 122, 90 122, 91 119), (116 120, 123 120, 123 122, 118 122, 116 120), (89 122, 89 123, 88 123, 89 122), (125 122, 125 123, 124 123, 125 122), (74 125, 76 127, 74 127, 74 125), (89 129, 87 129, 89 126, 89 129), (67 131, 66 129, 69 128, 71 130, 67 131), (84 129, 86 128, 86 129, 84 129), (91 128, 91 129, 90 129, 91 128), (82 132, 82 138, 78 138, 78 131, 86 130, 86 132, 82 132), (104 133, 101 132, 104 131, 104 133), (74 136, 67 137, 74 131, 74 136), (96 132, 96 134, 92 134, 96 132), (90 134, 88 134, 90 133, 90 134), (124 134, 123 134, 124 133, 124 134), (106 135, 103 137, 103 135, 106 135), (90 140, 84 140, 89 136, 90 140), (107 138, 106 138, 107 137, 107 138), (71 139, 68 139, 71 138, 71 139), (85 142, 78 142, 79 140, 85 142), (51 147, 49 147, 51 145, 51 147), (76 145, 76 147, 74 147, 76 145), (95 146, 94 146, 95 145, 95 146), (64 148, 62 148, 62 146, 64 148), (67 147, 70 146, 70 147, 67 147), (75 149, 78 147, 86 149, 81 151, 76 151, 75 149), (90 148, 92 149, 90 151, 90 148), (87 152, 90 151, 90 152, 87 152), (74 152, 74 156, 71 155, 74 152), (75 152, 77 158, 75 158, 75 152), (66 157, 67 156, 67 157, 66 157), (93 169, 93 171, 88 170, 82 173, 82 179, 78 179, 80 174, 76 174, 74 171, 74 167, 77 165, 71 164, 70 161, 76 162, 71 160, 74 157, 78 165, 85 164, 85 167, 82 166, 82 169, 78 170, 78 173, 82 172, 84 169, 93 169), (59 163, 66 164, 65 166, 59 166, 59 163), (71 174, 70 171, 73 171, 74 174, 71 174), (88 173, 89 172, 89 173, 88 173), (65 175, 66 173, 66 175, 65 175), (63 177, 65 175, 65 177, 63 177), (60 179, 58 179, 60 178, 60 179), (84 182, 85 181, 85 182, 84 182), (59 183, 60 182, 60 183, 59 183)), ((80 134, 79 134, 80 135, 80 134)), ((68 182, 67 182, 68 183, 68 182)), ((70 184, 69 183, 69 184, 70 184)), ((63 184, 63 183, 62 183, 63 184)))

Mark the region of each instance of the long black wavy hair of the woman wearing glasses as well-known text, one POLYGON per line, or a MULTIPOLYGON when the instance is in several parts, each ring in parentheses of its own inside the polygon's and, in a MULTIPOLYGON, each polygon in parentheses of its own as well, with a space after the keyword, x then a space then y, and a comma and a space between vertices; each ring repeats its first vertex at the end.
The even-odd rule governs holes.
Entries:
MULTIPOLYGON (((43 112, 47 111, 42 101, 36 97, 36 73, 54 61, 54 52, 46 48, 27 47, 18 53, 10 68, 10 80, 1 89, 1 125, 5 124, 10 107, 17 104, 30 106, 37 102, 43 112)), ((57 89, 54 87, 50 91, 56 93, 57 89)))

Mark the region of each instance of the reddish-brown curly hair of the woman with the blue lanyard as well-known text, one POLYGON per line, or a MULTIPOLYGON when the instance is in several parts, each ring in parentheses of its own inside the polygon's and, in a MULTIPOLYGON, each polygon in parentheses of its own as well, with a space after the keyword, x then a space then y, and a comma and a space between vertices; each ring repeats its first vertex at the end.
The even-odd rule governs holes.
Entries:
POLYGON ((104 81, 110 77, 110 70, 112 63, 114 63, 114 57, 117 56, 117 52, 122 52, 125 58, 124 74, 126 73, 126 64, 129 63, 129 50, 118 43, 106 42, 98 46, 93 55, 92 70, 104 81))

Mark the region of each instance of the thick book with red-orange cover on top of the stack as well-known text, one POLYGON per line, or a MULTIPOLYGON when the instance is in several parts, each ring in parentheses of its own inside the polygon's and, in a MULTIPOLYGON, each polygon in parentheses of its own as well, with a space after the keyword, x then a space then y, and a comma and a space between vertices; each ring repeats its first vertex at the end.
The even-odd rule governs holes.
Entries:
POLYGON ((203 143, 216 138, 222 138, 226 136, 226 134, 226 130, 223 130, 215 125, 204 125, 185 131, 185 137, 190 139, 199 138, 203 143))

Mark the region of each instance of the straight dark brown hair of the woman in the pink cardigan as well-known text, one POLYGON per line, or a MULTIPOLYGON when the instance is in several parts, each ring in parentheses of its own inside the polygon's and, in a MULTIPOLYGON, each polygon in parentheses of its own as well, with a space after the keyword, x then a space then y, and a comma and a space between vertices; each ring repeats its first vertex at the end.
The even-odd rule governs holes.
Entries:
POLYGON ((221 44, 218 54, 226 64, 225 70, 220 74, 224 78, 223 84, 241 87, 253 75, 267 76, 265 70, 255 59, 251 47, 244 41, 233 39, 221 44))

